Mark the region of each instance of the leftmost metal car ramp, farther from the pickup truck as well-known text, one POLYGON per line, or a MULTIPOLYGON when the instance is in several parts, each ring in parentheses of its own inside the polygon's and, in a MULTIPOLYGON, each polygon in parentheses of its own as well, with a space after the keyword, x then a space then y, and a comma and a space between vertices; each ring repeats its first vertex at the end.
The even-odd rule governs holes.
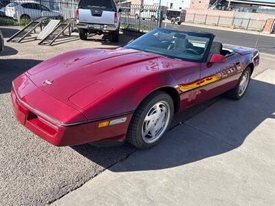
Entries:
POLYGON ((37 19, 34 19, 34 21, 31 21, 28 25, 26 25, 25 27, 23 27, 22 30, 20 30, 19 32, 17 32, 16 34, 14 34, 7 41, 14 41, 14 42, 20 43, 26 36, 28 36, 28 34, 30 34, 30 32, 32 32, 33 30, 35 30, 36 27, 38 27, 39 25, 41 25, 43 23, 43 21, 45 21, 46 19, 48 19, 48 17, 44 17, 44 16, 43 17, 39 17, 37 19))

